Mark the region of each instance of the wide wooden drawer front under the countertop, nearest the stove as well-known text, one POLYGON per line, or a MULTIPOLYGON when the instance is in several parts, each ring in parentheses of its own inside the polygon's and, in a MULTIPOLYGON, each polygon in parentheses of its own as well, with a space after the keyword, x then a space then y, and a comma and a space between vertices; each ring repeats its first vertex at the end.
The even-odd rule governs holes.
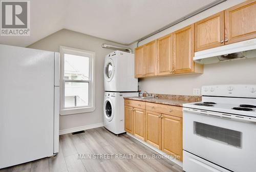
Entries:
POLYGON ((146 110, 182 118, 182 107, 178 106, 146 102, 146 110))

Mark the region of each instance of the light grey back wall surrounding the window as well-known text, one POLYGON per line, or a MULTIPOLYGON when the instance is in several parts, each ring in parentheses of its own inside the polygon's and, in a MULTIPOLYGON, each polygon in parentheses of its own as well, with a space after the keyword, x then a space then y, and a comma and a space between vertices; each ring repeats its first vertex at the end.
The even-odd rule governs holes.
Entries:
POLYGON ((100 38, 63 29, 29 46, 33 49, 55 52, 59 52, 59 46, 66 46, 96 53, 96 110, 92 113, 60 116, 60 130, 103 122, 104 57, 114 51, 101 48, 103 43, 118 45, 100 38))

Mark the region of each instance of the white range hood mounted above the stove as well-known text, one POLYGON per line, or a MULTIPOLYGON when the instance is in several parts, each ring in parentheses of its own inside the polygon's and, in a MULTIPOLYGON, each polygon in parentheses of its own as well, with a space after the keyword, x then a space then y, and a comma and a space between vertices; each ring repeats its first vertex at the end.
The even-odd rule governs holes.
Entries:
POLYGON ((253 57, 256 57, 256 38, 195 52, 193 59, 197 63, 207 65, 253 57))

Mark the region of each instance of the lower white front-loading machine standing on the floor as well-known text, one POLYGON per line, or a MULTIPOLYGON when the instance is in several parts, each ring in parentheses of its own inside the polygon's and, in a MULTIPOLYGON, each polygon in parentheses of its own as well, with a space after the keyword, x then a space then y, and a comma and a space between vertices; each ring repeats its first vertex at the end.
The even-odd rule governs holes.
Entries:
POLYGON ((123 97, 139 96, 138 92, 121 93, 105 92, 104 93, 104 126, 114 134, 124 133, 124 99, 123 97))

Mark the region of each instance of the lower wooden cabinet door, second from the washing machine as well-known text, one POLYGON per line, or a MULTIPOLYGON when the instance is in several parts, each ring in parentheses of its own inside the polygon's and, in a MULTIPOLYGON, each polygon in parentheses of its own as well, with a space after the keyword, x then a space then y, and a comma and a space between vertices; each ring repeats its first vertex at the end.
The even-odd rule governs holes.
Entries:
POLYGON ((134 108, 134 135, 144 140, 145 138, 145 110, 134 108))

